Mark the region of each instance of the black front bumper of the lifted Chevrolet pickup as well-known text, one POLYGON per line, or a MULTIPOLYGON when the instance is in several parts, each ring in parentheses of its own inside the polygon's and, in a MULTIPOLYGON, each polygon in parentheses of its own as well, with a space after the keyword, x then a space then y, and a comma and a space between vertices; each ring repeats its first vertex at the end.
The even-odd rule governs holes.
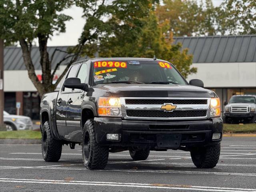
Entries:
POLYGON ((134 121, 121 118, 94 118, 96 142, 109 146, 150 146, 162 149, 156 144, 157 135, 181 135, 180 146, 209 146, 220 143, 212 140, 213 133, 222 133, 221 118, 202 121, 134 121), (107 140, 106 134, 119 134, 120 140, 107 140))

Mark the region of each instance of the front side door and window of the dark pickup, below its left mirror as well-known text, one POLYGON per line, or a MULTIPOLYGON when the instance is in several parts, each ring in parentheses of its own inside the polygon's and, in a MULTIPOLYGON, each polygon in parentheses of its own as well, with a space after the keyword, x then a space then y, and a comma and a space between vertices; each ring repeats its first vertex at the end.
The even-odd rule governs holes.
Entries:
MULTIPOLYGON (((88 83, 88 65, 82 63, 77 78, 80 78, 81 83, 88 83)), ((73 89, 68 94, 68 105, 67 105, 67 129, 70 140, 81 141, 82 126, 81 126, 81 104, 84 100, 86 92, 80 89, 73 89)))

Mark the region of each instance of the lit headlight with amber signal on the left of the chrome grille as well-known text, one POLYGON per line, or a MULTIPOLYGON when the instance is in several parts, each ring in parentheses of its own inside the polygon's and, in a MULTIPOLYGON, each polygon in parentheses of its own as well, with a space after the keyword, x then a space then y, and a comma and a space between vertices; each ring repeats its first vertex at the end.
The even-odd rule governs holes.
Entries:
POLYGON ((99 116, 121 116, 120 98, 104 98, 98 100, 99 116))

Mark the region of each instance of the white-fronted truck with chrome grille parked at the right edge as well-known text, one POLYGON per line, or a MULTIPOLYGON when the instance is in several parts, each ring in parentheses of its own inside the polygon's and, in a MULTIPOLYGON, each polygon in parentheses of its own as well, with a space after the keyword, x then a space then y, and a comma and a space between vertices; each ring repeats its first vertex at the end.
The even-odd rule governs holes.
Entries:
POLYGON ((256 121, 256 96, 234 95, 229 102, 224 102, 224 122, 250 122, 256 121))

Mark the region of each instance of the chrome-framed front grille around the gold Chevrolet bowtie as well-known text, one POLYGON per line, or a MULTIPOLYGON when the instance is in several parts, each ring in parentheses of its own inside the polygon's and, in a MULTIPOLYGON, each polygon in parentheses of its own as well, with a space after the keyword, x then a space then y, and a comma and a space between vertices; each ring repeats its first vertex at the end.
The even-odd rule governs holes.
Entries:
POLYGON ((120 98, 123 119, 200 120, 210 118, 210 98, 120 98), (176 106, 173 111, 161 109, 176 106))

